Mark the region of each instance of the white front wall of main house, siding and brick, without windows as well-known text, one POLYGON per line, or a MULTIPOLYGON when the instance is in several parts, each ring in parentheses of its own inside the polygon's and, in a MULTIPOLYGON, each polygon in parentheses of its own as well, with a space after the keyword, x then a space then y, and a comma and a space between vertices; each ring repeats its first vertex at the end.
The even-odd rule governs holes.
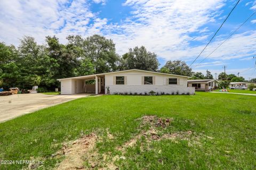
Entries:
MULTIPOLYGON (((172 92, 176 93, 177 91, 179 94, 187 94, 188 92, 189 94, 195 93, 194 87, 187 87, 187 78, 175 75, 160 75, 157 73, 145 73, 139 71, 106 74, 105 87, 109 87, 110 94, 119 92, 137 92, 138 94, 145 94, 145 92, 148 93, 151 90, 158 93, 165 92, 165 94, 172 94, 172 92), (124 76, 126 78, 126 84, 116 85, 114 81, 116 76, 124 76), (155 80, 155 82, 153 82, 153 84, 142 84, 143 77, 145 76, 154 77, 153 80, 155 80), (169 78, 177 78, 179 84, 168 84, 169 78)), ((107 90, 105 90, 105 93, 107 94, 107 90)))

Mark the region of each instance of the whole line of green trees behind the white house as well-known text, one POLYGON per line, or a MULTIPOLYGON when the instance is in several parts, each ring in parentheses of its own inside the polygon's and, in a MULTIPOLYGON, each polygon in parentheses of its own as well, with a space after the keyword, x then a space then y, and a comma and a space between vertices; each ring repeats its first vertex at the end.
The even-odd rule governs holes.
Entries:
POLYGON ((129 69, 187 75, 192 79, 213 78, 209 71, 205 76, 194 73, 180 60, 167 61, 158 70, 157 55, 144 46, 130 48, 120 56, 113 40, 100 35, 68 36, 65 45, 55 36, 47 36, 43 45, 25 36, 18 47, 0 43, 0 59, 0 87, 5 89, 40 86, 53 90, 60 86, 57 79, 129 69))

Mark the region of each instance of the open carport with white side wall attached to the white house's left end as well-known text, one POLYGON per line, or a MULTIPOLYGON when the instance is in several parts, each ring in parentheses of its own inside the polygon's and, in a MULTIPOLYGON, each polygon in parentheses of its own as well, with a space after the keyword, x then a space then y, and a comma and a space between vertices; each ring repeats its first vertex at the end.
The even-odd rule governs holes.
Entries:
POLYGON ((105 74, 84 75, 66 79, 58 79, 61 83, 61 95, 93 93, 105 94, 105 74), (95 83, 88 83, 95 80, 95 83))

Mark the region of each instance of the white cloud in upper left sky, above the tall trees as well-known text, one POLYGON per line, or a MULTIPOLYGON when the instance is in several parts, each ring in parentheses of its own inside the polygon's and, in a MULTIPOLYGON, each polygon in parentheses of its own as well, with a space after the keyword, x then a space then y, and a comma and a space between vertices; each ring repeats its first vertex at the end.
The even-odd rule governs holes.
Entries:
POLYGON ((45 36, 57 35, 65 43, 68 35, 99 33, 106 24, 106 19, 98 19, 89 10, 86 0, 0 1, 0 16, 0 39, 14 45, 25 35, 38 43, 44 43, 45 36))

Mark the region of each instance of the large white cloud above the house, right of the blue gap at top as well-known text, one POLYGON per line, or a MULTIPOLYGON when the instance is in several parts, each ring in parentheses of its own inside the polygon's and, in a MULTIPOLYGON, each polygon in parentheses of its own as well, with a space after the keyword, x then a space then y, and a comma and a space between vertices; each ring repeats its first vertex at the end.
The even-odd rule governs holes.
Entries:
POLYGON ((222 1, 128 0, 124 5, 133 7, 134 15, 109 28, 123 32, 109 35, 116 42, 118 52, 123 54, 129 47, 144 45, 160 57, 173 60, 192 57, 187 49, 194 37, 189 34, 207 31, 201 27, 215 21, 214 16, 218 14, 215 11, 224 4, 222 1))

